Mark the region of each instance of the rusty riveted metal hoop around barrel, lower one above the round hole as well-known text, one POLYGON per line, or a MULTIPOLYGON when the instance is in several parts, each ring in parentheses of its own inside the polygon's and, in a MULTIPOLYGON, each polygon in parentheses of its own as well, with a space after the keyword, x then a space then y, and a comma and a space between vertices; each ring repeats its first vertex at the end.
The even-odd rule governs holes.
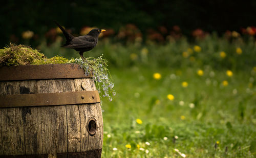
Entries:
POLYGON ((16 94, 0 96, 0 108, 99 103, 98 91, 16 94))

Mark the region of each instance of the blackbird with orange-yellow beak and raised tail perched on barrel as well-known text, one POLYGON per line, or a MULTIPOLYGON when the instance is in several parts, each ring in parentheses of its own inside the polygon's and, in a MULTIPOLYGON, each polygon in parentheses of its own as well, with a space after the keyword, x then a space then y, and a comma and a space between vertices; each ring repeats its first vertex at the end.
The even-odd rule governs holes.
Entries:
POLYGON ((99 34, 105 30, 101 29, 92 29, 87 35, 74 37, 70 33, 68 33, 63 27, 61 27, 57 21, 54 21, 60 30, 63 32, 64 36, 66 37, 66 43, 63 44, 61 47, 65 48, 72 48, 79 52, 82 60, 86 60, 82 55, 83 52, 87 52, 92 50, 97 42, 99 34))

